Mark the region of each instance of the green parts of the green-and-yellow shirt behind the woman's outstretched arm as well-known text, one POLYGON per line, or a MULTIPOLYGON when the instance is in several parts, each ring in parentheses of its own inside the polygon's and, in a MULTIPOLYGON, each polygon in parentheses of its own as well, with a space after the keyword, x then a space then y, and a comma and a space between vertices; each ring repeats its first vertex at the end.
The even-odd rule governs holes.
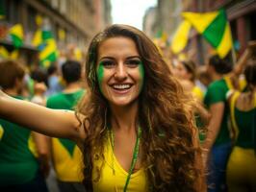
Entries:
MULTIPOLYGON (((84 90, 79 90, 74 93, 59 93, 48 98, 46 107, 47 108, 57 108, 57 109, 74 109, 78 100, 84 95, 84 90)), ((64 148, 73 156, 74 148, 76 143, 70 141, 69 139, 59 138, 64 148)))

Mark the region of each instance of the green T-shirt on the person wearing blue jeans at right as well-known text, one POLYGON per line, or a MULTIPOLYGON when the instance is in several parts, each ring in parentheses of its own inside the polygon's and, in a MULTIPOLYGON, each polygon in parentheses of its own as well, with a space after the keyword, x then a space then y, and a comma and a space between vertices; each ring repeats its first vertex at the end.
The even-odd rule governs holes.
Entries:
POLYGON ((215 142, 215 145, 221 145, 230 141, 230 135, 228 130, 228 116, 229 108, 226 103, 226 93, 228 91, 228 86, 223 79, 213 82, 209 85, 206 95, 204 98, 204 104, 207 108, 210 108, 211 105, 217 103, 224 103, 224 112, 223 118, 221 121, 220 129, 218 136, 215 142))

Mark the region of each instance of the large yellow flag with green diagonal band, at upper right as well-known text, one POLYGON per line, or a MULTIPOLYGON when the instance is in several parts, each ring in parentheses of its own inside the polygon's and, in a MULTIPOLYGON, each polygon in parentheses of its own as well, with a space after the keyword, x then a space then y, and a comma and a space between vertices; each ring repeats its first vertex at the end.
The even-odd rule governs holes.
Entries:
POLYGON ((182 15, 216 49, 220 58, 229 53, 232 48, 232 35, 224 10, 206 13, 183 12, 182 15))

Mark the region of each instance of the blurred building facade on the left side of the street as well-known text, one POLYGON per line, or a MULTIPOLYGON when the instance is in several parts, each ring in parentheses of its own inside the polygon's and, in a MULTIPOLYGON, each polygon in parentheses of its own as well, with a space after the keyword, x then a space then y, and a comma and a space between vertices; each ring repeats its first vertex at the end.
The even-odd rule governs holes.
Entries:
POLYGON ((110 0, 4 0, 4 19, 0 21, 0 44, 12 50, 8 30, 21 24, 24 43, 20 48, 26 62, 32 62, 37 49, 32 45, 41 25, 49 29, 57 41, 58 48, 72 45, 85 51, 92 36, 111 23, 110 0), (25 53, 25 54, 24 54, 25 53))

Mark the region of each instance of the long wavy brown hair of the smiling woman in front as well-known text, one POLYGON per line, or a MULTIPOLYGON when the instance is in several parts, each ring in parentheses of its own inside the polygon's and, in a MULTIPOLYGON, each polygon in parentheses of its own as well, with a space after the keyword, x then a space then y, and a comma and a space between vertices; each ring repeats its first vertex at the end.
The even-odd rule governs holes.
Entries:
POLYGON ((100 178, 102 166, 94 167, 97 177, 92 178, 93 162, 104 159, 106 125, 112 115, 96 78, 98 49, 104 40, 115 36, 129 37, 136 43, 144 67, 138 116, 142 128, 141 159, 150 190, 195 191, 199 171, 194 166, 198 149, 192 141, 195 136, 192 100, 184 94, 153 42, 127 25, 112 25, 94 36, 90 43, 86 61, 89 88, 77 108, 77 114, 85 115, 80 121, 87 134, 84 142, 86 189, 92 191, 92 182, 100 178))

